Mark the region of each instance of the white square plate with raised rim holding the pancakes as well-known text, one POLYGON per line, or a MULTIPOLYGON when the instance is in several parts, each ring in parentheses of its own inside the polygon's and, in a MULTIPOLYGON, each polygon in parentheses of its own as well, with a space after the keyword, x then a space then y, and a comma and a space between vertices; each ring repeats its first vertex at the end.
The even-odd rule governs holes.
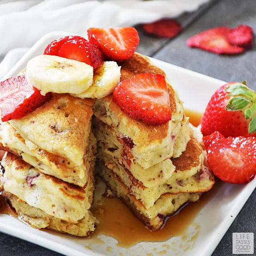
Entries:
MULTIPOLYGON (((30 50, 18 61, 15 67, 7 74, 6 78, 15 76, 20 70, 26 67, 29 59, 42 54, 45 47, 55 38, 67 35, 64 32, 47 34, 39 40, 30 50)), ((203 112, 212 94, 224 81, 213 79, 172 64, 152 59, 154 63, 163 69, 168 76, 172 86, 178 91, 184 107, 194 111, 203 112)), ((55 250, 67 256, 93 256, 93 255, 150 255, 157 256, 163 250, 163 244, 169 244, 170 250, 167 255, 182 256, 210 256, 216 246, 238 215, 239 211, 256 187, 256 179, 247 185, 222 184, 218 193, 212 197, 201 209, 195 218, 195 224, 200 226, 200 232, 196 233, 195 225, 189 227, 189 236, 186 241, 180 237, 173 237, 165 242, 142 242, 129 249, 117 247, 117 241, 111 237, 102 236, 105 243, 94 243, 93 238, 76 239, 68 235, 61 235, 54 232, 44 232, 28 227, 17 218, 9 215, 0 215, 0 231, 20 239, 39 244, 48 249, 55 250), (193 241, 193 242, 192 242, 193 241), (111 246, 112 252, 106 250, 111 246), (90 247, 91 250, 88 248, 90 247), (157 248, 154 249, 153 248, 157 248), (189 248, 189 250, 187 250, 189 248), (186 249, 186 250, 185 250, 186 249), (119 254, 120 253, 120 254, 119 254)), ((230 237, 232 239, 232 237, 230 237)))

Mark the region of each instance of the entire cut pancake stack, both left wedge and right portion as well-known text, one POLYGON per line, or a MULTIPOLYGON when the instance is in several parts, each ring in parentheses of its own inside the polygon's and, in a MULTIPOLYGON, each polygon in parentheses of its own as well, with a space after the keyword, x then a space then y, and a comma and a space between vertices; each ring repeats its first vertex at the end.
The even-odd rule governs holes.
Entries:
MULTIPOLYGON (((166 76, 138 53, 118 64, 121 81, 140 73, 166 76)), ((32 227, 87 236, 96 221, 90 208, 97 155, 97 171, 113 193, 149 229, 159 229, 167 215, 214 184, 201 133, 166 82, 172 120, 164 125, 132 119, 112 94, 95 102, 55 93, 27 116, 1 123, 0 149, 8 151, 1 195, 32 227)))

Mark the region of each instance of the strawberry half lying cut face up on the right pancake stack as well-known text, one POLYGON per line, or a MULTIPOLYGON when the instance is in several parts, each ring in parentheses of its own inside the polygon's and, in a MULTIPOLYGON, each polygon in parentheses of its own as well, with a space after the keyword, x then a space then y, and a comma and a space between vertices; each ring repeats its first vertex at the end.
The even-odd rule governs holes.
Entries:
POLYGON ((166 80, 162 75, 139 74, 120 82, 113 101, 133 119, 148 125, 165 124, 172 119, 166 80))

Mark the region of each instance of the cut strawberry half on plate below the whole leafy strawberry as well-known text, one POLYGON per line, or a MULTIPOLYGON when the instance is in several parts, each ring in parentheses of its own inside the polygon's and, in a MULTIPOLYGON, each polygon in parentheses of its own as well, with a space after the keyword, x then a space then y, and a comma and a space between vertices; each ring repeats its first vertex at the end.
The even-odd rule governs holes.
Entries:
POLYGON ((256 175, 256 138, 217 140, 208 148, 207 162, 221 180, 234 184, 248 183, 256 175))

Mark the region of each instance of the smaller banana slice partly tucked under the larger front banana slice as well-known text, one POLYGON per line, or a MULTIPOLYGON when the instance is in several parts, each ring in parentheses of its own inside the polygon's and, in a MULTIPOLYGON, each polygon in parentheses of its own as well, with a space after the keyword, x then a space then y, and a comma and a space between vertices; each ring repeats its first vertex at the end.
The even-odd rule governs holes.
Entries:
POLYGON ((84 98, 102 99, 113 93, 116 85, 120 82, 121 67, 115 61, 105 61, 101 67, 94 70, 93 84, 84 93, 71 94, 72 96, 84 98))

